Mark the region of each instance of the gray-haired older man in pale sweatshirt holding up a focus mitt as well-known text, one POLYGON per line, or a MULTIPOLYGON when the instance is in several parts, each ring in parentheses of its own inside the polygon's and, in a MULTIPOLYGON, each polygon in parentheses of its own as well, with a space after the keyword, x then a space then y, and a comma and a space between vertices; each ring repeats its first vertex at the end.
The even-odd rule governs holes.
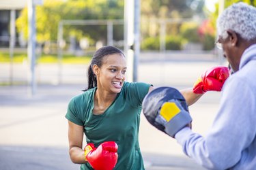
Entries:
POLYGON ((190 119, 177 99, 167 99, 172 105, 162 105, 155 121, 203 167, 256 169, 256 8, 234 3, 219 16, 217 29, 217 45, 233 74, 223 86, 221 105, 208 134, 203 137, 186 126, 190 119), (167 107, 175 108, 175 113, 171 115, 167 107))

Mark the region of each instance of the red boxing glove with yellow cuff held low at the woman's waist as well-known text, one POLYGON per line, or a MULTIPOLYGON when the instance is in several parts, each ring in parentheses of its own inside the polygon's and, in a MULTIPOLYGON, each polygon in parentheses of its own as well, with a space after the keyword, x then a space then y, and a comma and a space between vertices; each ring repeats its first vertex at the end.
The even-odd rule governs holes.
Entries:
POLYGON ((85 146, 85 160, 95 170, 112 170, 117 164, 117 148, 115 141, 105 141, 98 148, 88 143, 85 146))

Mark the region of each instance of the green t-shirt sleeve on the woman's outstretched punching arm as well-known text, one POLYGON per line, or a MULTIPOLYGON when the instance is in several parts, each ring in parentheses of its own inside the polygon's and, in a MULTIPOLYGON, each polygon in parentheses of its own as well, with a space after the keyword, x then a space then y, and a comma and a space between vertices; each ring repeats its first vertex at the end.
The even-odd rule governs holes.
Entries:
POLYGON ((129 92, 127 94, 130 103, 135 106, 141 106, 142 101, 147 95, 148 90, 150 89, 151 84, 146 84, 143 82, 133 82, 130 83, 129 92))

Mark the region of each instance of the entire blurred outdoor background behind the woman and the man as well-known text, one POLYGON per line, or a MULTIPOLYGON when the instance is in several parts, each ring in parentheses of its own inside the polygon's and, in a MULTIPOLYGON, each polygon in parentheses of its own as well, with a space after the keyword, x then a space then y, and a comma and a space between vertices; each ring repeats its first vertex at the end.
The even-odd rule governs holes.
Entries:
MULTIPOLYGON (((129 81, 154 86, 188 88, 209 67, 227 65, 214 46, 216 18, 236 2, 1 0, 0 169, 79 169, 64 116, 102 46, 124 50, 129 81)), ((195 131, 206 133, 219 97, 209 92, 190 108, 195 131)), ((140 134, 146 169, 202 169, 143 116, 140 134)))

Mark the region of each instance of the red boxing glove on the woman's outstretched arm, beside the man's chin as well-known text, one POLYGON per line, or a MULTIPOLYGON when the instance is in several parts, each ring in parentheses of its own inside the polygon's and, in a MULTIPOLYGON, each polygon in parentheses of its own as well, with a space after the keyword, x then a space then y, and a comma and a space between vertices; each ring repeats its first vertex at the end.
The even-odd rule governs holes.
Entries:
POLYGON ((221 91, 225 80, 229 77, 229 69, 224 66, 217 66, 208 69, 195 82, 193 92, 203 94, 207 91, 221 91))

